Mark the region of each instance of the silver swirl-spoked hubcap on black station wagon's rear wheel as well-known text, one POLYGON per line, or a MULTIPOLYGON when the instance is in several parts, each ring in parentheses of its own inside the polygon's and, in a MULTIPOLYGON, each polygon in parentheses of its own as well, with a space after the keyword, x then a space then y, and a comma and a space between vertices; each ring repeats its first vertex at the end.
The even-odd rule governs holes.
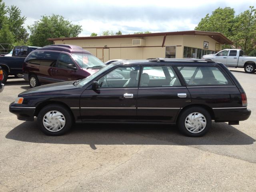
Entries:
POLYGON ((206 118, 201 113, 191 113, 185 120, 186 129, 191 133, 199 133, 206 126, 206 118))

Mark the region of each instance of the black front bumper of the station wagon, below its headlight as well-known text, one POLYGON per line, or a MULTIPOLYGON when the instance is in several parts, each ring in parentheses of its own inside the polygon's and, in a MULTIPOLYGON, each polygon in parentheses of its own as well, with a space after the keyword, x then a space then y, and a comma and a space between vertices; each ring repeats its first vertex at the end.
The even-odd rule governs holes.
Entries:
POLYGON ((9 106, 9 111, 22 121, 34 121, 35 110, 35 107, 13 106, 13 103, 9 106))

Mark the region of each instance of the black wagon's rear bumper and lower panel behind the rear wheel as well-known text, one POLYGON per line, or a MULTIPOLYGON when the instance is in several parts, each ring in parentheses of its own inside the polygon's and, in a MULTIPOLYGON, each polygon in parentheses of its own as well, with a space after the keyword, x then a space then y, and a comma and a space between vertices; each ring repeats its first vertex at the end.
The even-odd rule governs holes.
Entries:
POLYGON ((215 122, 245 121, 251 115, 247 107, 240 108, 213 108, 215 122))

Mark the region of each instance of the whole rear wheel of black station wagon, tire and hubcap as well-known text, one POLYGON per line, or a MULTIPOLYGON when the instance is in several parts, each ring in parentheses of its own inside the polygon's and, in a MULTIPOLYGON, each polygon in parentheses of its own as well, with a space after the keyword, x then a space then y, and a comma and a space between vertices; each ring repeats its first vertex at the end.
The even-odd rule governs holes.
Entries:
POLYGON ((201 137, 211 128, 212 118, 204 108, 191 107, 180 114, 177 125, 184 135, 201 137))

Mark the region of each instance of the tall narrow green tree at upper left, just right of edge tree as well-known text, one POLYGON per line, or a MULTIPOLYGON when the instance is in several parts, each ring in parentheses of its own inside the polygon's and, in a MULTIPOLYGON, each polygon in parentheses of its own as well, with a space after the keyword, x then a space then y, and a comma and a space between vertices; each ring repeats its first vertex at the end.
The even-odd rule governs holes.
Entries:
POLYGON ((7 12, 9 14, 8 17, 8 25, 10 31, 14 34, 14 38, 16 41, 24 40, 25 42, 28 39, 28 32, 22 26, 26 20, 26 17, 21 17, 21 11, 16 6, 11 6, 11 8, 7 8, 7 12))

